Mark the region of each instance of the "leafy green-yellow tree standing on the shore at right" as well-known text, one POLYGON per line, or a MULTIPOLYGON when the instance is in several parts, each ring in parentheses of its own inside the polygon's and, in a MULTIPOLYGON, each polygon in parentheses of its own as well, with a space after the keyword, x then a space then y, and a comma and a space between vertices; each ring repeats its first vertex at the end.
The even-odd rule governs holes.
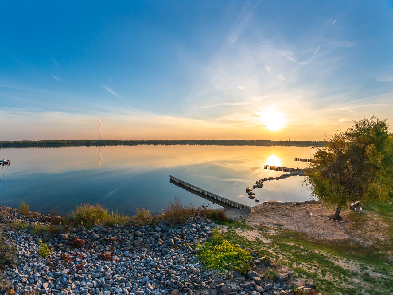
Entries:
POLYGON ((386 121, 364 117, 344 133, 326 138, 326 147, 313 148, 305 183, 312 197, 336 208, 334 218, 348 203, 393 195, 393 138, 386 121))

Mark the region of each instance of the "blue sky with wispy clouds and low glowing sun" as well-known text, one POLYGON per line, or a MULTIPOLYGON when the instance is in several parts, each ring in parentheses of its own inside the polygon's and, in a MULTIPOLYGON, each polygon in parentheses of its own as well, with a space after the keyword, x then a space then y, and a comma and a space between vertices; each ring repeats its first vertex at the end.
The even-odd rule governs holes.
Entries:
POLYGON ((0 10, 0 140, 97 139, 100 124, 103 139, 323 140, 364 116, 393 124, 392 1, 0 10))

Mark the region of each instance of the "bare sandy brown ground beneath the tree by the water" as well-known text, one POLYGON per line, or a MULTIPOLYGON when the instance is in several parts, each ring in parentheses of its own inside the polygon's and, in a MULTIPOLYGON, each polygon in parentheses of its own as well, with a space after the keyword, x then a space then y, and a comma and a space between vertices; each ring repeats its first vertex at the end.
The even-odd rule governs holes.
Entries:
MULTIPOLYGON (((371 212, 361 212, 369 217, 362 223, 337 222, 328 218, 334 214, 334 210, 327 208, 324 204, 316 203, 279 203, 265 202, 255 207, 251 211, 239 209, 226 209, 226 214, 230 218, 243 218, 249 221, 250 225, 268 225, 271 227, 281 227, 287 230, 304 232, 314 238, 322 240, 352 240, 360 244, 368 244, 376 239, 384 241, 386 238, 378 234, 378 227, 382 221, 378 216, 372 216, 371 212), (310 216, 312 213, 312 216, 310 216), (323 216, 323 217, 320 217, 323 216), (310 219, 309 219, 310 218, 310 219), (365 226, 364 222, 368 223, 365 226), (375 229, 375 230, 367 230, 375 229)), ((343 221, 354 221, 356 213, 347 210, 340 214, 343 221)))

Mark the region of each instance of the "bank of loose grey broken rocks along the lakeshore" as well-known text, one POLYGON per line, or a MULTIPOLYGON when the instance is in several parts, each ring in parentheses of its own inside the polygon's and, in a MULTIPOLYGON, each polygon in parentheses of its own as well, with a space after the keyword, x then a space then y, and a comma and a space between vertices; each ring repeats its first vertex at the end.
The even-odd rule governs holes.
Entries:
POLYGON ((287 273, 274 280, 257 274, 267 265, 255 255, 253 271, 246 277, 237 271, 205 270, 195 248, 211 236, 216 224, 200 217, 181 224, 99 225, 48 235, 7 226, 15 222, 36 225, 43 217, 49 216, 30 218, 0 206, 6 243, 17 247, 18 253, 1 270, 2 278, 11 283, 10 294, 291 294, 287 273), (39 256, 40 239, 50 247, 49 257, 39 256))

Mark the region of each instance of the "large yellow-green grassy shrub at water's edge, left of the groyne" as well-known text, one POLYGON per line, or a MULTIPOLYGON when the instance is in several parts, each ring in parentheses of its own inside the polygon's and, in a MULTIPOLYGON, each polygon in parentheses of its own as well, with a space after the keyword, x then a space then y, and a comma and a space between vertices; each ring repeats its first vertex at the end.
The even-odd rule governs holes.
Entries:
POLYGON ((99 223, 106 225, 114 225, 128 221, 129 218, 117 213, 110 214, 108 210, 98 203, 96 205, 83 204, 76 207, 76 211, 72 212, 72 219, 77 224, 83 226, 93 226, 99 223))

